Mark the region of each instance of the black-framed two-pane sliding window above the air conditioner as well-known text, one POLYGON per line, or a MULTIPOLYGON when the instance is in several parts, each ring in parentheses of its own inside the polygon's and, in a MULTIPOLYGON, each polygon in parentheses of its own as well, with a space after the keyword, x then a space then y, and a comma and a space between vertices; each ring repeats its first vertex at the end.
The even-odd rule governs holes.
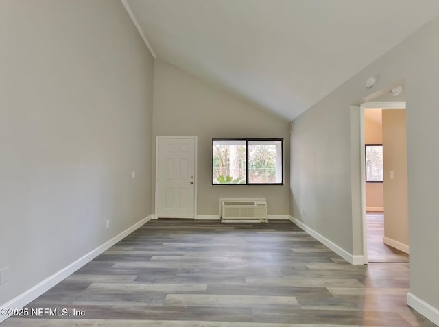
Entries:
POLYGON ((212 184, 283 185, 283 139, 214 138, 212 184))

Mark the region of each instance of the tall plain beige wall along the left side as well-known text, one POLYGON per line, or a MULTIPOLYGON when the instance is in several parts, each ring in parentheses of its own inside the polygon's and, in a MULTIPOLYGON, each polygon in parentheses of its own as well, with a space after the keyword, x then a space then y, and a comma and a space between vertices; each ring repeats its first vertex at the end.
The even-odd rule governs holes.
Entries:
POLYGON ((151 214, 153 61, 119 0, 0 8, 1 307, 151 214))

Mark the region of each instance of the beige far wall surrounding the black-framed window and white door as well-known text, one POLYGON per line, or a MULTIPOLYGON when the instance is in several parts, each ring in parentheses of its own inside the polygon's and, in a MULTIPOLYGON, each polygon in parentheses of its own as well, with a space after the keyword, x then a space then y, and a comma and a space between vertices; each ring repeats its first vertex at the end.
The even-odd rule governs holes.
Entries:
POLYGON ((154 62, 155 136, 198 136, 198 215, 219 215, 221 197, 266 197, 268 214, 288 215, 288 122, 189 75, 154 62), (284 138, 285 185, 211 185, 212 138, 284 138))

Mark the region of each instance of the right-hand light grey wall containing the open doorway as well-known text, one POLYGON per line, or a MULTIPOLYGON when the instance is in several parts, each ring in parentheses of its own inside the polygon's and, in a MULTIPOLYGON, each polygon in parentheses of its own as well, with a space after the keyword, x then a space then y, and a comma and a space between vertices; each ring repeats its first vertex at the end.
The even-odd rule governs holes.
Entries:
POLYGON ((439 19, 435 19, 294 120, 290 204, 296 219, 347 252, 362 254, 361 197, 351 197, 351 185, 361 184, 362 149, 355 140, 359 134, 359 114, 357 110, 351 111, 350 105, 368 101, 378 90, 405 80, 410 292, 436 310, 439 308, 439 280, 434 273, 439 270, 436 260, 438 38, 439 19), (377 78, 377 84, 368 90, 364 84, 371 76, 377 78), (307 215, 300 214, 302 206, 307 208, 307 215))

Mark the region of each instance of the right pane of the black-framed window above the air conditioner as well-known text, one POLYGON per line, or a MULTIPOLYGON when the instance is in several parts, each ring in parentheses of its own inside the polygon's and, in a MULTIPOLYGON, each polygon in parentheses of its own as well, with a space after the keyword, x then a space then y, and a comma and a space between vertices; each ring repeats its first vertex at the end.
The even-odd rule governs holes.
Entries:
POLYGON ((248 183, 282 183, 282 142, 248 141, 248 183))

